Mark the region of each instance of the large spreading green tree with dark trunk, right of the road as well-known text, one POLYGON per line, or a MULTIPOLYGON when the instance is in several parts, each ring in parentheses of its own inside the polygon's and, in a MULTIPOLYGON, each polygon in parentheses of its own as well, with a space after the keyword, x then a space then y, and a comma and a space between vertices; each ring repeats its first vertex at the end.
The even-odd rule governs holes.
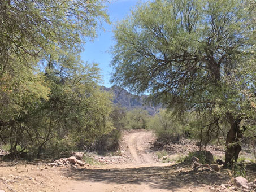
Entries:
POLYGON ((245 130, 256 135, 255 17, 248 3, 143 3, 117 25, 112 48, 115 84, 149 91, 176 116, 195 111, 209 134, 229 125, 225 164, 236 162, 245 130))

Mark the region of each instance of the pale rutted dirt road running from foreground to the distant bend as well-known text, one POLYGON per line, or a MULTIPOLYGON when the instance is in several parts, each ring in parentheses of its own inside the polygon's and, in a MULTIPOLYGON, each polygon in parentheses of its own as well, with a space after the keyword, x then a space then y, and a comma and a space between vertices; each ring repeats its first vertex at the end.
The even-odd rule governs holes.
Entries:
POLYGON ((151 150, 152 132, 125 133, 122 149, 131 163, 105 165, 94 169, 69 169, 72 178, 60 188, 67 192, 144 192, 144 191, 208 191, 209 184, 223 178, 207 172, 193 172, 190 167, 160 163, 151 150))

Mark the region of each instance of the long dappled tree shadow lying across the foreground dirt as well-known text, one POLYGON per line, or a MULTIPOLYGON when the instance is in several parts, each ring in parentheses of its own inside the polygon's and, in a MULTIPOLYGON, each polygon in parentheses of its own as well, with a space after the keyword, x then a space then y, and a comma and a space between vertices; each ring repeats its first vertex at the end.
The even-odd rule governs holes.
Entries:
POLYGON ((77 181, 106 182, 115 184, 147 184, 157 189, 179 189, 181 187, 203 187, 220 185, 228 181, 227 172, 210 170, 194 171, 193 168, 178 165, 168 167, 140 167, 124 169, 76 169, 64 173, 77 181))

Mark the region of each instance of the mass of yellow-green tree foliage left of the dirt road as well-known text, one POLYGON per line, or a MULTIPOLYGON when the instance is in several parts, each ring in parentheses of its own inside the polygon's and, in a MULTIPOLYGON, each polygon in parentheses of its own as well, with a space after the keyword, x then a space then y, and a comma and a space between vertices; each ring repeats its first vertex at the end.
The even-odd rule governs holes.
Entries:
POLYGON ((0 140, 12 156, 57 157, 111 132, 111 95, 80 60, 109 21, 105 1, 0 2, 0 140))

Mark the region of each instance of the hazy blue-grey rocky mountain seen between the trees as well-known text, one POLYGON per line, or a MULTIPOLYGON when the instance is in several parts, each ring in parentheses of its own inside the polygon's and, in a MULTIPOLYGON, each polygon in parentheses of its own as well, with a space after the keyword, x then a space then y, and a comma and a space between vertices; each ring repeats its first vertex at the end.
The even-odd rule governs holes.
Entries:
POLYGON ((101 86, 101 90, 113 93, 113 103, 117 106, 127 108, 127 110, 142 108, 149 111, 150 115, 154 115, 157 113, 159 108, 161 108, 160 106, 154 106, 152 103, 145 103, 144 100, 148 97, 147 95, 134 95, 116 85, 112 86, 111 88, 101 86))

